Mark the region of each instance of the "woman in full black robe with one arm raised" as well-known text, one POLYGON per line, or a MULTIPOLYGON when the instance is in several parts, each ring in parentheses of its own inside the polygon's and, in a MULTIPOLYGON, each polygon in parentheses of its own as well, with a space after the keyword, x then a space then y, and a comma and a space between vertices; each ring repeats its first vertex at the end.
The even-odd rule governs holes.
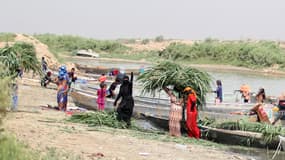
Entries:
POLYGON ((133 72, 131 72, 131 79, 128 76, 124 76, 123 84, 120 87, 119 94, 114 102, 114 106, 117 106, 117 101, 122 98, 118 108, 117 108, 117 119, 119 121, 123 120, 127 123, 127 126, 131 125, 131 117, 134 108, 133 99, 133 72))

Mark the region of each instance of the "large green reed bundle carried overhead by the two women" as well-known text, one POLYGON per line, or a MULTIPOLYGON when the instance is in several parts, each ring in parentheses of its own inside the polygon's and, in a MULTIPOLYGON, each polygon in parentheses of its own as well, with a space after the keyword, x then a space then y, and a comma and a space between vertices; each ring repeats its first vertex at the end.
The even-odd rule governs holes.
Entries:
POLYGON ((211 77, 208 73, 169 61, 148 68, 138 77, 138 81, 143 85, 143 93, 152 94, 169 85, 183 94, 183 89, 189 86, 196 91, 198 105, 205 102, 206 94, 211 88, 211 77))

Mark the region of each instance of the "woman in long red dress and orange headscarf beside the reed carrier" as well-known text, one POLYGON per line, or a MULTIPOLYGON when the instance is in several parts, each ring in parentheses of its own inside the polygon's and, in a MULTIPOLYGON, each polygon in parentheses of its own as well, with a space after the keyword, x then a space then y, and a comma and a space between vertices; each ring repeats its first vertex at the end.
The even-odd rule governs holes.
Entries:
POLYGON ((197 96, 195 91, 190 88, 186 87, 184 89, 184 92, 187 95, 187 103, 186 103, 186 109, 187 109, 187 119, 186 119, 186 126, 188 129, 188 136, 194 137, 194 138, 200 138, 200 130, 197 125, 197 96))

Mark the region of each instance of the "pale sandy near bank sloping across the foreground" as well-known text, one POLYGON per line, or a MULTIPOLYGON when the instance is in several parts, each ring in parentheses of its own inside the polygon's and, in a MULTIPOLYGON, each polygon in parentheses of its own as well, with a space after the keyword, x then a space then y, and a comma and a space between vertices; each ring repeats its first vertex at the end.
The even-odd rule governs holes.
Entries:
POLYGON ((55 104, 55 92, 54 89, 41 88, 35 82, 21 82, 20 111, 10 112, 5 120, 8 132, 41 153, 47 152, 48 148, 55 148, 86 160, 246 159, 213 147, 188 144, 187 148, 179 148, 174 142, 128 136, 124 130, 90 131, 91 128, 86 125, 66 122, 68 115, 63 112, 40 107, 55 104), (97 153, 103 153, 104 157, 98 158, 97 153))

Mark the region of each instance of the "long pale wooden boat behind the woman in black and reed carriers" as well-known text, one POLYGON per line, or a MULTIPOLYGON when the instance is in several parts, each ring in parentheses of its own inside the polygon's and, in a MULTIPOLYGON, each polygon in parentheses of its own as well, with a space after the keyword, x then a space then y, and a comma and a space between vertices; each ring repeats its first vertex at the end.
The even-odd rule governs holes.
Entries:
MULTIPOLYGON (((90 91, 87 88, 84 89, 73 89, 70 93, 74 103, 82 108, 97 110, 97 95, 96 92, 90 91)), ((134 114, 135 115, 143 115, 145 117, 154 117, 154 118, 167 118, 169 115, 170 102, 168 99, 159 99, 159 98, 151 98, 151 97, 142 97, 135 96, 135 107, 134 114)), ((105 108, 107 110, 114 110, 113 106, 114 99, 106 99, 105 108)), ((238 120, 244 118, 242 115, 232 115, 229 114, 233 111, 240 111, 244 109, 250 109, 252 106, 242 106, 241 104, 235 104, 232 106, 228 106, 228 104, 224 105, 207 105, 203 108, 203 110, 199 111, 199 116, 202 118, 208 117, 213 119, 220 120, 238 120)))

